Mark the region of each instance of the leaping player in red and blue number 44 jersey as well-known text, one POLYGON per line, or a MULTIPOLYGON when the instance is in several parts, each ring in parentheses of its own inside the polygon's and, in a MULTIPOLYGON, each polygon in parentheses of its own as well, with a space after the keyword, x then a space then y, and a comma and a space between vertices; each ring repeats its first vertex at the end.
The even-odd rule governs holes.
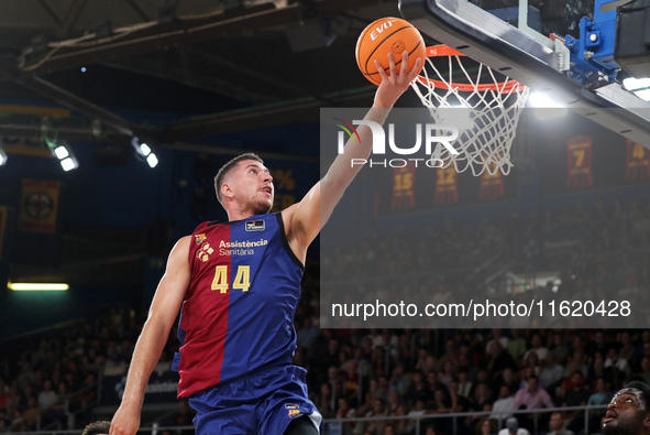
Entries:
MULTIPOLYGON (((383 123, 419 72, 396 74, 388 55, 373 107, 365 119, 383 123)), ((408 65, 405 52, 401 65, 408 65)), ((321 416, 307 399, 305 370, 291 366, 294 315, 307 248, 359 172, 352 159, 367 159, 372 133, 349 142, 298 204, 268 215, 273 178, 262 160, 244 154, 214 180, 229 222, 201 224, 181 238, 152 302, 135 346, 122 403, 110 435, 133 435, 148 377, 158 361, 179 308, 181 341, 174 366, 178 395, 197 411, 197 434, 318 434, 321 416)))

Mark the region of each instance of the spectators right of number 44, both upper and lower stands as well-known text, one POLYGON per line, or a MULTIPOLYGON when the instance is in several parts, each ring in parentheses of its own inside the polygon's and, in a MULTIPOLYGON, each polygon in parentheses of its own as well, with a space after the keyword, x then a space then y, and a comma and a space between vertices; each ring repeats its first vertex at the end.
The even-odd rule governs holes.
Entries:
MULTIPOLYGON (((464 289, 492 292, 493 297, 503 292, 511 298, 515 289, 507 281, 486 283, 485 278, 495 270, 517 270, 524 276, 554 271, 557 280, 539 287, 530 280, 526 291, 568 301, 629 300, 641 312, 650 306, 650 202, 596 200, 591 206, 484 219, 475 226, 448 220, 418 230, 414 235, 399 227, 393 235, 374 233, 350 249, 323 252, 322 287, 330 280, 345 297, 365 292, 371 301, 377 294, 408 295, 409 302, 425 295, 440 303, 453 301, 464 289), (486 262, 486 273, 476 273, 486 262), (368 264, 375 265, 370 273, 368 264), (423 290, 419 294, 414 292, 418 287, 423 290)), ((540 330, 535 328, 539 319, 521 324, 513 317, 493 330, 442 329, 448 319, 427 318, 441 329, 319 331, 318 312, 311 308, 306 303, 297 316, 296 360, 310 370, 310 388, 326 416, 489 412, 498 424, 485 427, 496 433, 514 410, 608 403, 625 382, 650 380, 646 329, 596 329, 593 319, 573 318, 563 328, 540 330), (592 320, 591 329, 581 328, 582 320, 592 320)), ((337 318, 339 325, 346 320, 337 318)), ((601 414, 590 414, 588 433, 599 431, 601 414)), ((559 417, 563 429, 585 431, 581 412, 562 412, 555 421, 559 417)), ((550 426, 550 414, 538 422, 525 414, 517 418, 531 433, 561 433, 550 426)), ((436 418, 431 426, 445 434, 453 427, 472 434, 482 429, 480 420, 436 418)), ((344 428, 382 434, 386 425, 355 423, 344 428)), ((400 420, 388 426, 388 433, 415 433, 400 420)))

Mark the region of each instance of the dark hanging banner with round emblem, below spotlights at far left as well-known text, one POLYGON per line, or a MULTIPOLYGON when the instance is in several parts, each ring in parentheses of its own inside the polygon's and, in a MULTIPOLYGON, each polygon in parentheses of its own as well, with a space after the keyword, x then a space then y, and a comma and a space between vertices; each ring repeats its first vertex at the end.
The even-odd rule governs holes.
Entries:
POLYGON ((47 180, 22 180, 20 231, 55 232, 59 186, 47 180))

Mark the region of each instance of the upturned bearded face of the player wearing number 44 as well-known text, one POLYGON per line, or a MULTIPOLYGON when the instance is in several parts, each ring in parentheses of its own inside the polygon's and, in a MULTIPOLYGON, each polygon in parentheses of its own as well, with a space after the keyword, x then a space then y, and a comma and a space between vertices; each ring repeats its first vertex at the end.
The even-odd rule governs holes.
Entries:
POLYGON ((263 215, 273 207, 273 177, 257 161, 244 160, 238 164, 233 191, 240 206, 250 208, 253 215, 263 215))

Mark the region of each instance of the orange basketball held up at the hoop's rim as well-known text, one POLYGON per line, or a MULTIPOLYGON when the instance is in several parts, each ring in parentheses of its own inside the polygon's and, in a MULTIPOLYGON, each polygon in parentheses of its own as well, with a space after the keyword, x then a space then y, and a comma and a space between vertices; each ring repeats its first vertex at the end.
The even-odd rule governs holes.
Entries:
POLYGON ((361 32, 356 41, 356 65, 365 78, 379 85, 382 76, 375 67, 374 59, 379 61, 387 75, 390 75, 388 65, 388 53, 395 56, 396 72, 401 67, 401 53, 408 52, 408 69, 412 68, 416 59, 422 59, 420 70, 427 59, 427 48, 420 32, 408 21, 399 18, 379 19, 361 32))

